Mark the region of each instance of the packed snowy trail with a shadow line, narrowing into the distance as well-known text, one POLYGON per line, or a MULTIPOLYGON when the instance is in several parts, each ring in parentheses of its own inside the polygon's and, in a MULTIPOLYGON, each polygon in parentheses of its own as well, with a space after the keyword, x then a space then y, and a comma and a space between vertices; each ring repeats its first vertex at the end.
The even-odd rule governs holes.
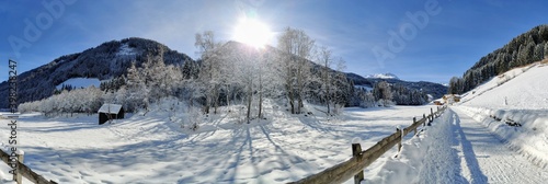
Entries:
MULTIPOLYGON (((507 148, 480 123, 453 108, 453 130, 458 146, 464 183, 545 183, 548 171, 507 148)), ((460 183, 460 182, 458 182, 460 183)))

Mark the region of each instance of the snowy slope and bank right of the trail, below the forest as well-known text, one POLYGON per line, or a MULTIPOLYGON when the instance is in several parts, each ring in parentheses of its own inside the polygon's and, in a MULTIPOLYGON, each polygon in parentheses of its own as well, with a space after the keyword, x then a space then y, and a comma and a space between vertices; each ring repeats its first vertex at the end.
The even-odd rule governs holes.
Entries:
POLYGON ((517 68, 478 87, 475 94, 466 94, 459 106, 530 162, 548 168, 546 78, 546 62, 517 68))

